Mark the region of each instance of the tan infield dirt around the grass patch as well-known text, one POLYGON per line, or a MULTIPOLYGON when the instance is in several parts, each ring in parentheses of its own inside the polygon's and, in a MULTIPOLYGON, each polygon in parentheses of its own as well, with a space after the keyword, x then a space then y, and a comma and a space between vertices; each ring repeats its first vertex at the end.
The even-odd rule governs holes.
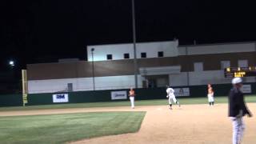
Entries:
MULTIPOLYGON (((248 104, 254 114, 256 104, 248 104)), ((55 110, 24 110, 0 112, 1 116, 34 115, 34 114, 66 114, 97 111, 146 111, 141 129, 133 134, 119 134, 101 138, 84 139, 72 144, 81 143, 231 143, 232 125, 227 117, 227 104, 174 106, 136 106, 104 107, 104 108, 76 108, 55 110)), ((246 123, 245 135, 242 143, 256 143, 256 117, 244 118, 246 123)))

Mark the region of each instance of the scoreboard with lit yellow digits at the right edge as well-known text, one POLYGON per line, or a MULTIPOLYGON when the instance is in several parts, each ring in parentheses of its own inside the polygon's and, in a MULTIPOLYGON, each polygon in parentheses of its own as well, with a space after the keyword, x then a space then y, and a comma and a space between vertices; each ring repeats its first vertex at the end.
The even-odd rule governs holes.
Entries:
POLYGON ((250 67, 228 67, 224 70, 225 78, 256 76, 256 66, 250 67))

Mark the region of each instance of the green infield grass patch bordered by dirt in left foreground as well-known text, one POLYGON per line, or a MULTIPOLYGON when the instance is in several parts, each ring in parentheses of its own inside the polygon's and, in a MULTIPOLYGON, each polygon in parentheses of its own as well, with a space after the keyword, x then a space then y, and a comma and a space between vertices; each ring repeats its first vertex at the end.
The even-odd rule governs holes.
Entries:
POLYGON ((1 143, 64 143, 137 132, 146 112, 0 117, 1 143))

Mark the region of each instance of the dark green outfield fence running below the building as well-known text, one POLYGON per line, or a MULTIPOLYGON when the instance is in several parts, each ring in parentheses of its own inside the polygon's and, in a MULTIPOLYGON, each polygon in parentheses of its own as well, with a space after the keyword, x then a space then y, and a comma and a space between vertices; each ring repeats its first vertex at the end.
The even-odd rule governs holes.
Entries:
MULTIPOLYGON (((245 83, 251 85, 252 94, 256 94, 256 83, 245 83)), ((207 86, 178 86, 178 88, 190 88, 190 96, 184 98, 206 97, 207 86)), ((213 85, 215 96, 226 96, 229 93, 231 84, 213 85)), ((174 87, 175 88, 175 87, 174 87)), ((124 90, 124 89, 122 89, 124 90)), ((82 102, 110 102, 111 91, 122 90, 95 90, 95 91, 78 91, 62 92, 47 94, 29 94, 27 106, 56 104, 53 102, 53 94, 69 94, 68 103, 82 102)), ((128 89, 125 89, 128 92, 128 89)), ((163 99, 166 98, 166 87, 160 88, 142 88, 136 89, 137 100, 163 99)), ((182 98, 182 97, 181 97, 182 98)), ((116 101, 116 100, 115 100, 116 101)), ((65 102, 67 103, 67 102, 65 102)), ((0 106, 22 106, 22 94, 0 95, 0 106)))

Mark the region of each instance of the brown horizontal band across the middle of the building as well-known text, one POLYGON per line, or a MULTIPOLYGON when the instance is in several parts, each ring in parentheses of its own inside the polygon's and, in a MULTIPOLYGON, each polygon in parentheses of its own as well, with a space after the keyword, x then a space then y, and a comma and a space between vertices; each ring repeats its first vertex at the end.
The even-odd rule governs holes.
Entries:
MULTIPOLYGON (((230 61, 231 67, 238 66, 239 59, 248 60, 249 66, 256 66, 256 52, 232 54, 205 54, 168 58, 138 59, 138 68, 157 66, 181 66, 182 72, 194 71, 194 62, 203 62, 203 70, 221 70, 222 61, 230 61)), ((29 80, 58 78, 90 78, 92 77, 92 62, 79 61, 69 63, 42 63, 27 65, 29 80)), ((114 60, 94 62, 94 76, 120 76, 134 74, 134 61, 114 60)))

